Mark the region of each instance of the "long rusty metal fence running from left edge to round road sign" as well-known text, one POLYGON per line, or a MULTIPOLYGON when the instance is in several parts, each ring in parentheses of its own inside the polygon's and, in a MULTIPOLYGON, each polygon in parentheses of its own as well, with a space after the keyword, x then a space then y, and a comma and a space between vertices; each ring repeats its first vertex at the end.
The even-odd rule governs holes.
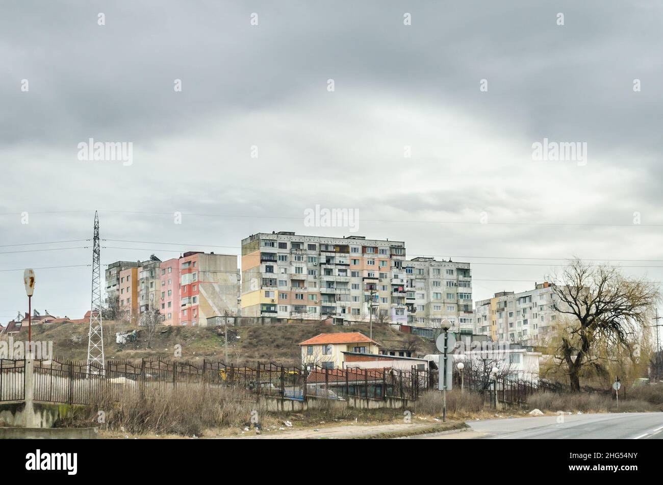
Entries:
MULTIPOLYGON (((328 369, 271 361, 233 364, 218 359, 199 362, 143 358, 109 360, 105 370, 86 362, 35 360, 34 400, 93 404, 102 399, 120 401, 128 394, 146 392, 199 393, 222 398, 256 400, 260 396, 287 400, 326 398, 347 400, 416 400, 431 388, 426 370, 328 369)), ((436 385, 436 381, 434 381, 436 385)), ((0 401, 25 399, 25 361, 2 360, 0 401)))

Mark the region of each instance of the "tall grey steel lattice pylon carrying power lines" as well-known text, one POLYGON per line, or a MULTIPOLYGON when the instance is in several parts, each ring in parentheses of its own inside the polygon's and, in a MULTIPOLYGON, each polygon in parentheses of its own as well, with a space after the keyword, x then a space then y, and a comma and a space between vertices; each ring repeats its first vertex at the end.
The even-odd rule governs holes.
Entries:
POLYGON ((103 327, 101 326, 101 250, 99 247, 99 215, 94 213, 94 242, 92 245, 92 303, 88 331, 88 374, 103 374, 103 327))

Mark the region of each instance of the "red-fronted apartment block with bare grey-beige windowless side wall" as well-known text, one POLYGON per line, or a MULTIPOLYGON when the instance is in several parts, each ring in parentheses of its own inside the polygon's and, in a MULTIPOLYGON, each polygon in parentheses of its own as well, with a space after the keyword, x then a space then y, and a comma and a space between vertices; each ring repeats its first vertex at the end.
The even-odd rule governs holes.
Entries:
POLYGON ((208 318, 237 315, 237 256, 185 252, 179 259, 180 325, 208 325, 208 318))

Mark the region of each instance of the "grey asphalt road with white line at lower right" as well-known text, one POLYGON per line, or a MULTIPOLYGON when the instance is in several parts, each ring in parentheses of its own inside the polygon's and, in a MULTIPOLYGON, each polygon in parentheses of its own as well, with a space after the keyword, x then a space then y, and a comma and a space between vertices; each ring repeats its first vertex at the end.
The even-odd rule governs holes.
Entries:
POLYGON ((459 433, 416 439, 663 439, 663 413, 605 413, 467 421, 459 433), (563 418, 562 422, 558 422, 563 418))

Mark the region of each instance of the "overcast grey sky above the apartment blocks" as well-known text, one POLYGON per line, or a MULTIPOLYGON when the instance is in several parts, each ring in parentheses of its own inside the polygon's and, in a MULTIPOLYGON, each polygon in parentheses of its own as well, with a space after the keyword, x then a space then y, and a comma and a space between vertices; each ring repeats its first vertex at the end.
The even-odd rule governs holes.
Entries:
POLYGON ((90 308, 91 268, 76 266, 90 243, 52 242, 89 239, 95 209, 103 264, 296 231, 469 261, 475 300, 574 255, 663 281, 662 15, 638 1, 5 0, 1 321, 26 310, 25 267, 33 307, 90 308), (133 163, 79 160, 88 138, 132 142, 133 163), (586 164, 532 160, 544 138, 586 143, 586 164), (359 231, 305 227, 316 204, 359 209, 359 231))

